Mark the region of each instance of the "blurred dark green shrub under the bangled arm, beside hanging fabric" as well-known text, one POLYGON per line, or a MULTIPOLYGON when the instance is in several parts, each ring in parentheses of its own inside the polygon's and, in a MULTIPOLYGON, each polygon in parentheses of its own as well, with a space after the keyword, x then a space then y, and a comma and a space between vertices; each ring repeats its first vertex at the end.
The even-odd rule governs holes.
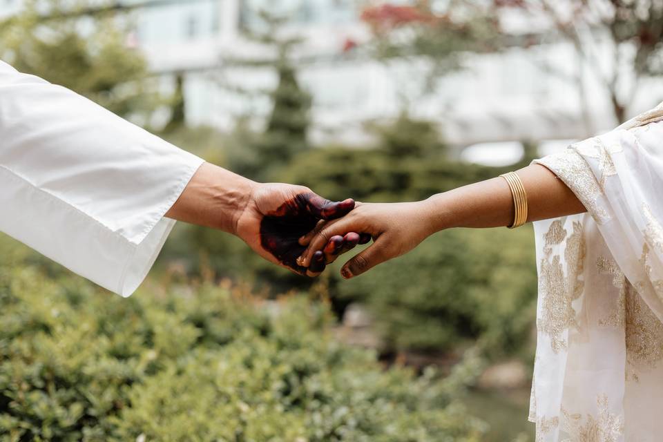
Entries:
POLYGON ((530 229, 453 230, 338 284, 372 311, 387 349, 453 352, 481 339, 490 356, 519 352, 535 320, 530 229))

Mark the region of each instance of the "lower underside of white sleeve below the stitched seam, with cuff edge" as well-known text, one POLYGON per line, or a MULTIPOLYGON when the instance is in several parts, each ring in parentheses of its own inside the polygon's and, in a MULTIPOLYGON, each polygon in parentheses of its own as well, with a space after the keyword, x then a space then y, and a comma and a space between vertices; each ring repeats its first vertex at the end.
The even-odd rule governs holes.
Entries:
POLYGON ((180 198, 202 160, 187 168, 157 215, 148 215, 150 229, 135 244, 121 233, 40 189, 29 180, 0 166, 0 207, 11 208, 0 215, 0 231, 23 242, 47 258, 127 297, 142 283, 160 253, 175 220, 165 213, 180 198))

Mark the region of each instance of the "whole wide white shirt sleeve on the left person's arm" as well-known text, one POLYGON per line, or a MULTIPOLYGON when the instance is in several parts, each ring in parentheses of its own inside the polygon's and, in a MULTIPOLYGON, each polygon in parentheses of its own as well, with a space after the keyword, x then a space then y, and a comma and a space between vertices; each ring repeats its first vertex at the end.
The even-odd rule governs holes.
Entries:
POLYGON ((0 231, 122 296, 203 160, 0 61, 0 231))

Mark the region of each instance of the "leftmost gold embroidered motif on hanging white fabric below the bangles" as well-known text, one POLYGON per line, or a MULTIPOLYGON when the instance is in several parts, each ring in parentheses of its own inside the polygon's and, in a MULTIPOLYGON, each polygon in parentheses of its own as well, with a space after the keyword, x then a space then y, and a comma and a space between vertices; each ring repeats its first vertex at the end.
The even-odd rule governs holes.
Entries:
POLYGON ((573 301, 582 295, 584 289, 582 274, 585 258, 585 242, 580 222, 573 223, 573 233, 566 240, 564 258, 566 259, 567 273, 561 265, 559 255, 552 257, 552 245, 559 244, 559 238, 566 236, 566 230, 561 227, 561 221, 551 224, 546 234, 546 256, 541 260, 539 270, 539 291, 543 296, 541 304, 541 317, 537 321, 539 330, 550 336, 550 346, 553 352, 566 349, 566 340, 562 337, 564 330, 578 327, 576 311, 573 301), (557 224, 559 222, 559 224, 557 224))

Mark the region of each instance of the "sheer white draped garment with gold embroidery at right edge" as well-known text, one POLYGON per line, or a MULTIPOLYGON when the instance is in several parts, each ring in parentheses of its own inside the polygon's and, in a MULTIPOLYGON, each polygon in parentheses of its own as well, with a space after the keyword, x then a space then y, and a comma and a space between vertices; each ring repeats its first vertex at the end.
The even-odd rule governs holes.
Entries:
POLYGON ((588 208, 535 223, 537 442, 663 438, 662 114, 537 160, 588 208))

